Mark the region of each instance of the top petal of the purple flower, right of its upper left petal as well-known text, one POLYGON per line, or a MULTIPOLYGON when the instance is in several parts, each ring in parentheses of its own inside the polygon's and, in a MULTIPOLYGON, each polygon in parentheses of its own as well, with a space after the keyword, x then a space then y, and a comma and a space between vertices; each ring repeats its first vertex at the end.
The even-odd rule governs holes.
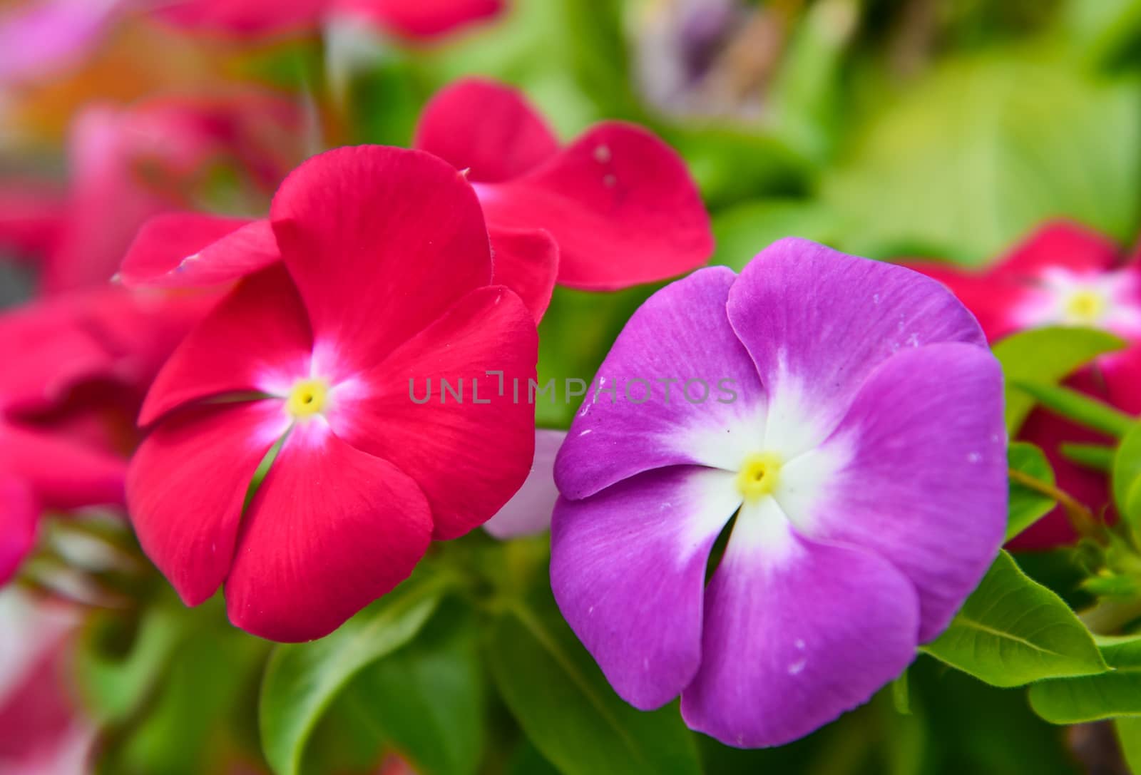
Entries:
POLYGON ((808 240, 774 242, 729 293, 729 321, 770 394, 768 434, 811 449, 836 427, 867 376, 901 348, 986 346, 971 313, 939 283, 808 240))

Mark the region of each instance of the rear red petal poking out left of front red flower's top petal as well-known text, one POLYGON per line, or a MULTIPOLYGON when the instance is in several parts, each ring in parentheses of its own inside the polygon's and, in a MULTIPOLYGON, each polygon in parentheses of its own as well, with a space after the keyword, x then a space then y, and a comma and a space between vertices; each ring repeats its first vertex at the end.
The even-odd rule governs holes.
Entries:
POLYGON ((228 283, 281 259, 269 221, 171 212, 139 229, 119 269, 124 285, 228 283))

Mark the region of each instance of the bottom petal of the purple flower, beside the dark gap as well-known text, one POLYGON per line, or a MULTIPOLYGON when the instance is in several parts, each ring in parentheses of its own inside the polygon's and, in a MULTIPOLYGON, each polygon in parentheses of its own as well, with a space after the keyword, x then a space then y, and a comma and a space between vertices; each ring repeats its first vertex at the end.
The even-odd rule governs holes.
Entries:
POLYGON ((690 728, 739 748, 807 735, 915 657, 915 590, 891 564, 792 534, 776 559, 764 528, 737 517, 706 592, 701 670, 681 694, 690 728))

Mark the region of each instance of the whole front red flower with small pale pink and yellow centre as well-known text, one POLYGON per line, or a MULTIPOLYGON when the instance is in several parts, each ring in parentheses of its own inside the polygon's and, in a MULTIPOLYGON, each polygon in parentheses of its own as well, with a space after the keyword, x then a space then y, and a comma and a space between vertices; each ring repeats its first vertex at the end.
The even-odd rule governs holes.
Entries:
POLYGON ((488 284, 470 184, 429 154, 316 156, 278 189, 270 223, 283 261, 244 278, 155 380, 128 503, 188 605, 225 582, 236 625, 306 640, 518 490, 534 412, 485 371, 526 384, 537 337, 523 301, 488 284), (440 378, 462 379, 467 401, 412 401, 410 380, 440 378))

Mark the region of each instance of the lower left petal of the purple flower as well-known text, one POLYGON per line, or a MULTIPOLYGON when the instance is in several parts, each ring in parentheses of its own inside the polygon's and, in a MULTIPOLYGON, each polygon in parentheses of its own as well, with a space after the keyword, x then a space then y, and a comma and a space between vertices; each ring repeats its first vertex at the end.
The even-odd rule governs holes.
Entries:
POLYGON ((693 466, 647 471, 551 522, 551 589, 564 617, 630 704, 678 696, 702 659, 710 550, 741 504, 735 475, 693 466))

